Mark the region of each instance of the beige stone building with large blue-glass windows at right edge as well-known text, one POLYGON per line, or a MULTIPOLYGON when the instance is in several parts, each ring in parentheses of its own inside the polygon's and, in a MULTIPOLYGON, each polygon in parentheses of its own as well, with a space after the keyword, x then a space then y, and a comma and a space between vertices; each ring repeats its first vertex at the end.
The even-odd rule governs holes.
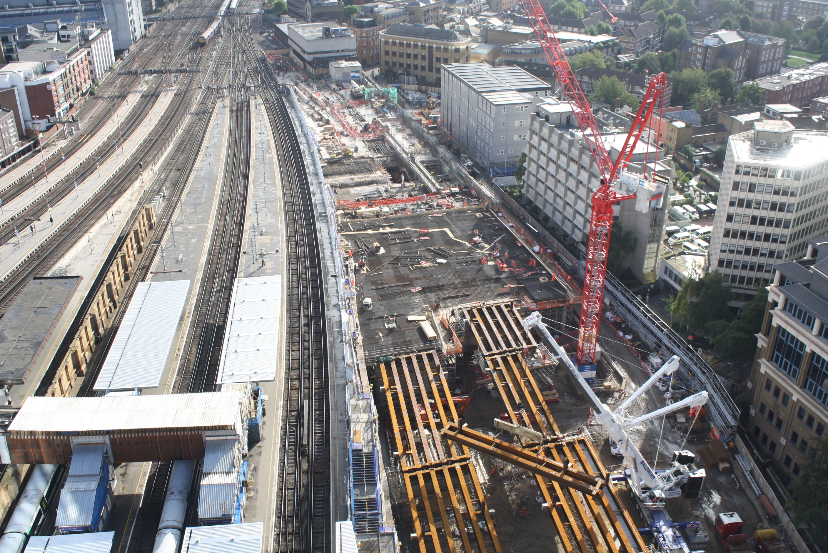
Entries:
POLYGON ((776 266, 757 334, 749 388, 749 439, 789 477, 828 426, 828 236, 776 266))

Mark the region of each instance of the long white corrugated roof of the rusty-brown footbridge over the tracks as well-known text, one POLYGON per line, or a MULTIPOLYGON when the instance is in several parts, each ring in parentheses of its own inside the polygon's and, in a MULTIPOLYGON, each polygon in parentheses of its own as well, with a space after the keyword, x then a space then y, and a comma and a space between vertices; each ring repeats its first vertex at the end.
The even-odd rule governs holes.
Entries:
POLYGON ((205 428, 241 432, 242 392, 28 397, 9 432, 112 432, 205 428))

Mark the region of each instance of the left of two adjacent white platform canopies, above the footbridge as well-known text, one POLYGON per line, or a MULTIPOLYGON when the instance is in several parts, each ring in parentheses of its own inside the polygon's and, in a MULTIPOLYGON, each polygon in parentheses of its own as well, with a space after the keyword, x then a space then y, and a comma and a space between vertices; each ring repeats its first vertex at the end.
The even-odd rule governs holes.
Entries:
POLYGON ((158 387, 189 290, 190 281, 138 284, 94 390, 158 387))

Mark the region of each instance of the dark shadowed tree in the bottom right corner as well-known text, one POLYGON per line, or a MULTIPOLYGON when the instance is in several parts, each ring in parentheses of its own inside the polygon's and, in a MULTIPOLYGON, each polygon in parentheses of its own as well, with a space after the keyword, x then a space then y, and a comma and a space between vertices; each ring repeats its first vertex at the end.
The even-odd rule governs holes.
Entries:
POLYGON ((828 438, 811 445, 799 463, 799 478, 791 485, 793 523, 803 522, 814 543, 828 543, 828 438))

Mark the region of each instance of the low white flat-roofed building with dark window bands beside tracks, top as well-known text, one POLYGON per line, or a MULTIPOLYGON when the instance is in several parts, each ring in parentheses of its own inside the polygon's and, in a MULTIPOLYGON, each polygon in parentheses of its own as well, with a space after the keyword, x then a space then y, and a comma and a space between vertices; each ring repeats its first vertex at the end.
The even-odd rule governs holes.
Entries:
POLYGON ((335 22, 280 23, 291 56, 309 75, 327 75, 331 61, 357 60, 357 39, 348 27, 335 22))

